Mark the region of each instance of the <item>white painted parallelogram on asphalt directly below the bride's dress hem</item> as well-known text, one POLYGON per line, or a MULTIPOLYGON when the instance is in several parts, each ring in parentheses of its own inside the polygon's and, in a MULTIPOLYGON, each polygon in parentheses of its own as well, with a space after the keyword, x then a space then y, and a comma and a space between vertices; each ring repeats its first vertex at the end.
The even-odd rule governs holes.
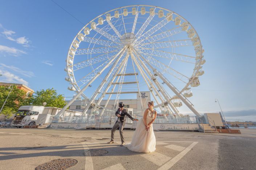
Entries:
POLYGON ((146 153, 141 155, 143 158, 146 158, 147 160, 155 163, 158 166, 163 165, 167 161, 171 159, 171 157, 168 157, 164 154, 153 152, 153 153, 146 153))

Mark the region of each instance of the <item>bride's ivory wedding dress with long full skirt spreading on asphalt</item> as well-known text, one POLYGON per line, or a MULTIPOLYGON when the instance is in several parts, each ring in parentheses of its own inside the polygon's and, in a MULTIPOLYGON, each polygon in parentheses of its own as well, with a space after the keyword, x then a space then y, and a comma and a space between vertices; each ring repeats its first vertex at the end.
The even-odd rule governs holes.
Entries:
MULTIPOLYGON (((147 124, 154 119, 154 112, 150 111, 147 113, 147 124)), ((153 131, 153 125, 151 124, 149 127, 149 131, 146 131, 143 118, 139 119, 136 130, 133 134, 133 138, 131 143, 124 145, 129 150, 134 152, 144 152, 150 153, 155 151, 155 134, 153 131)))

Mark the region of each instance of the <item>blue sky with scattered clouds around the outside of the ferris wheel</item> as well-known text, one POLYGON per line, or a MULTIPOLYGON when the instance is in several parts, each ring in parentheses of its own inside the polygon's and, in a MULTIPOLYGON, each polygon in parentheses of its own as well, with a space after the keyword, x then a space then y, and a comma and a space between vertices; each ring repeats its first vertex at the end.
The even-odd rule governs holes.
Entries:
MULTIPOLYGON (((229 120, 256 121, 256 1, 63 1, 62 8, 87 24, 108 10, 133 4, 170 9, 195 28, 205 49, 205 74, 190 101, 200 113, 218 112, 229 120), (233 114, 234 113, 234 114, 233 114)), ((65 59, 83 25, 51 0, 0 2, 0 81, 33 90, 54 88, 73 96, 64 80, 65 59)), ((182 107, 180 112, 191 112, 182 107)))

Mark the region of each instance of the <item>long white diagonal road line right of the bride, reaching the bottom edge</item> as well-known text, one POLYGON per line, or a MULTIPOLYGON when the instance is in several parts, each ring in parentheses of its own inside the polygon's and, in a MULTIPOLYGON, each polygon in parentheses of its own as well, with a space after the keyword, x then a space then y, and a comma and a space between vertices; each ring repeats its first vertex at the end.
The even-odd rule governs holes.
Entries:
POLYGON ((163 166, 161 166, 158 170, 168 170, 170 169, 176 162, 178 162, 186 153, 188 153, 198 142, 193 142, 186 149, 180 152, 177 156, 172 158, 170 161, 166 162, 163 166))

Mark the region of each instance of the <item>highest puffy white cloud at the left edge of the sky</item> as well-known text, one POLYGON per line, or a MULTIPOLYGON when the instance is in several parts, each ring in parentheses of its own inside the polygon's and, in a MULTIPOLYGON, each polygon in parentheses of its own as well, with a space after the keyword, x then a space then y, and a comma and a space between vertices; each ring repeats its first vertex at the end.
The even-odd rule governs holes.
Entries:
POLYGON ((9 39, 11 41, 15 41, 18 44, 22 44, 24 47, 29 47, 31 41, 29 41, 28 38, 26 38, 26 37, 15 38, 15 31, 7 30, 1 24, 0 24, 0 27, 2 29, 4 29, 2 34, 4 35, 5 38, 7 38, 7 39, 9 39))

